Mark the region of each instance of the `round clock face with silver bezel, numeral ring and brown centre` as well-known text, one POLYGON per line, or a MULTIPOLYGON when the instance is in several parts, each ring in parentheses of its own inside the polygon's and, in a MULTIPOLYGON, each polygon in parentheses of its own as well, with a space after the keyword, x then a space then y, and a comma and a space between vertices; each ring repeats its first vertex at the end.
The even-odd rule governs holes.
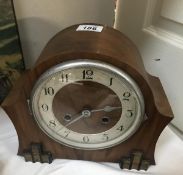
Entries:
POLYGON ((103 149, 131 137, 144 116, 135 81, 99 61, 75 60, 46 71, 32 91, 39 127, 53 140, 79 149, 103 149))

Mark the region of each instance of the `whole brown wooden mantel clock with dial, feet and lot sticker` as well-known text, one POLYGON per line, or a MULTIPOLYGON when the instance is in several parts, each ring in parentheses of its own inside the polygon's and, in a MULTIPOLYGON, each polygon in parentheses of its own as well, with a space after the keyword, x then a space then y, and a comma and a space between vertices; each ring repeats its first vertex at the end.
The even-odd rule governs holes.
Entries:
POLYGON ((2 107, 26 161, 107 161, 137 170, 155 164, 156 142, 173 117, 136 46, 119 31, 93 24, 54 36, 2 107))

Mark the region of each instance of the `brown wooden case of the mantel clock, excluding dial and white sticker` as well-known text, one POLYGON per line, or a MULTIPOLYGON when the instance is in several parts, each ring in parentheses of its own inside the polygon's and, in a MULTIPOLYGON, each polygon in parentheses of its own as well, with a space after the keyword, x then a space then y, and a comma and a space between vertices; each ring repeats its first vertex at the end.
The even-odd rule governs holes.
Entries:
POLYGON ((66 28, 48 42, 35 66, 25 71, 2 104, 18 134, 18 154, 33 162, 51 162, 52 155, 53 158, 121 162, 121 168, 143 169, 140 166, 145 166, 147 169, 149 163, 155 164, 156 142, 173 118, 162 85, 158 78, 146 72, 136 46, 122 33, 106 26, 102 32, 76 31, 77 27, 66 28), (29 107, 36 80, 48 68, 75 59, 112 64, 139 85, 145 100, 145 119, 128 140, 107 149, 80 150, 55 142, 38 127, 29 107), (49 152, 41 150, 38 144, 49 152), (142 165, 143 160, 146 161, 142 165))

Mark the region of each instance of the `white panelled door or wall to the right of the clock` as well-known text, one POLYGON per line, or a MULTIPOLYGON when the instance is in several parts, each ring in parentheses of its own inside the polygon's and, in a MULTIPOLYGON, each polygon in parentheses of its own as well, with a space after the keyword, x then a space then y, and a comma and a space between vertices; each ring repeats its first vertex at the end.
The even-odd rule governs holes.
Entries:
POLYGON ((115 27, 137 45, 159 77, 183 137, 183 0, 118 0, 115 27))

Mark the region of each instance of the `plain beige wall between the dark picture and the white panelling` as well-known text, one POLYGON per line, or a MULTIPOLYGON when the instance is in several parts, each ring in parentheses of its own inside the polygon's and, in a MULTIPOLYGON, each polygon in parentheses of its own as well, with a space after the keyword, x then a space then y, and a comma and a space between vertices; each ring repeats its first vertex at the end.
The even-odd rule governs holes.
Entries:
POLYGON ((83 22, 113 26, 113 0, 14 0, 25 64, 30 67, 57 32, 83 22))

